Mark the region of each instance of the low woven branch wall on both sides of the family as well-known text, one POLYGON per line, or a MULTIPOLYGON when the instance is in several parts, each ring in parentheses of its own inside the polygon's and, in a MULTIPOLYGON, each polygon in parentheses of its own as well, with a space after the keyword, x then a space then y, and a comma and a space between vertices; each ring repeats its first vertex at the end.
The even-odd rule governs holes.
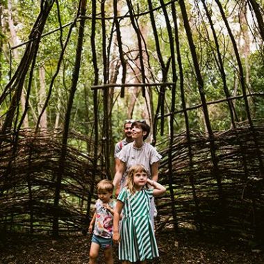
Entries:
MULTIPOLYGON (((249 126, 215 134, 217 157, 221 175, 220 185, 215 179, 208 136, 192 131, 192 165, 188 162, 188 143, 185 133, 176 135, 172 149, 172 181, 168 176, 167 149, 158 145, 163 155, 160 182, 172 187, 174 203, 169 192, 156 199, 157 226, 172 224, 191 227, 204 232, 229 231, 233 236, 251 238, 261 236, 264 218, 263 176, 259 170, 257 152, 264 155, 264 127, 256 126, 258 149, 249 126), (239 137, 237 136, 239 134, 239 137), (245 172, 245 170, 247 172, 245 172), (173 217, 172 208, 176 212, 173 217)), ((77 136, 77 135, 71 135, 77 136)), ((12 151, 12 136, 5 138, 1 148, 0 225, 1 229, 51 232, 52 220, 59 217, 59 229, 84 230, 90 220, 86 213, 92 174, 98 182, 104 173, 95 171, 92 159, 69 148, 61 186, 61 202, 53 206, 55 177, 60 156, 60 134, 33 137, 21 133, 17 151, 12 151), (9 167, 9 169, 8 169, 9 167)), ((81 138, 84 140, 84 138, 81 138)), ((92 203, 96 199, 92 193, 92 203)))

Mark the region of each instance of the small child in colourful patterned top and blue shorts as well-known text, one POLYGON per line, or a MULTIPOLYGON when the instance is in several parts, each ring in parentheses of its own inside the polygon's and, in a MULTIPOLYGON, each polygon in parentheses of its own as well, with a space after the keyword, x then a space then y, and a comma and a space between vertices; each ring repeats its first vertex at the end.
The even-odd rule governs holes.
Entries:
POLYGON ((89 226, 89 232, 93 233, 89 264, 96 263, 100 248, 104 250, 106 263, 113 264, 112 235, 113 214, 115 209, 115 201, 111 199, 113 188, 114 185, 109 180, 102 180, 97 184, 99 199, 95 204, 96 212, 89 226))

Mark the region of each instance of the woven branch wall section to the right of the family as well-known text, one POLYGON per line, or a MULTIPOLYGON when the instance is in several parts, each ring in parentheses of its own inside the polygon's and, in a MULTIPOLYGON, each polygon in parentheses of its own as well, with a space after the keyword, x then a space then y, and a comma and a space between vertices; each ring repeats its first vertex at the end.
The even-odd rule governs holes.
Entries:
MULTIPOLYGON (((209 232, 221 229, 247 238, 263 235, 260 232, 263 232, 264 186, 256 154, 261 151, 263 158, 263 129, 256 126, 258 149, 248 126, 215 134, 220 185, 213 172, 207 136, 192 132, 192 166, 188 162, 185 134, 175 137, 172 184, 177 224, 192 224, 209 232)), ((168 179, 166 154, 163 151, 163 183, 168 179)), ((161 215, 172 215, 170 197, 160 199, 158 204, 161 215)), ((167 224, 172 222, 170 217, 167 224)))

